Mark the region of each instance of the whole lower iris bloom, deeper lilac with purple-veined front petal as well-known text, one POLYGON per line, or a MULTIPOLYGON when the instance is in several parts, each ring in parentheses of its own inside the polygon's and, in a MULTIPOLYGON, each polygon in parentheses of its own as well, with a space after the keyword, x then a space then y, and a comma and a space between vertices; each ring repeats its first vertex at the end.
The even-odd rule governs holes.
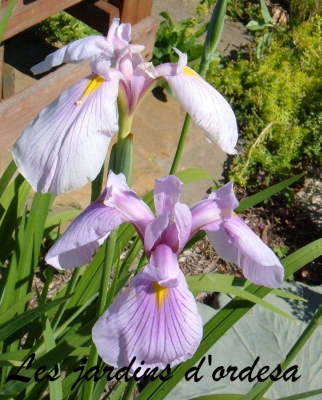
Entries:
POLYGON ((205 230, 218 254, 243 269, 254 283, 274 288, 284 269, 276 255, 233 213, 238 201, 231 183, 189 209, 179 202, 175 176, 156 180, 156 216, 131 190, 123 174, 109 173, 107 187, 50 249, 47 263, 71 269, 91 260, 112 229, 123 222, 136 228, 148 264, 99 318, 93 341, 109 365, 165 368, 190 357, 202 338, 196 302, 178 264, 187 241, 205 230), (144 361, 144 363, 142 363, 144 361))

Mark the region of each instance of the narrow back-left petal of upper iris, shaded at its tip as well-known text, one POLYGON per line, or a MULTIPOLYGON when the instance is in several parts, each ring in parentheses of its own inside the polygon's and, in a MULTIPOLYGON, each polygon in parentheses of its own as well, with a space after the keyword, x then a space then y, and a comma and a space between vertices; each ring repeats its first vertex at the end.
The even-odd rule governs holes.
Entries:
POLYGON ((52 67, 63 63, 78 63, 86 58, 91 58, 99 54, 113 57, 113 48, 103 36, 88 36, 78 39, 49 54, 44 61, 33 66, 33 74, 41 74, 50 70, 52 67))

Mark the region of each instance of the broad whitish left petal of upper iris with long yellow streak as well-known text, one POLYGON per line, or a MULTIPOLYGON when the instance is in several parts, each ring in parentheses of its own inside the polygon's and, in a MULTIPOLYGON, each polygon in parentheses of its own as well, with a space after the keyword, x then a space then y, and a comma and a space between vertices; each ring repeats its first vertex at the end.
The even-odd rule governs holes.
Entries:
POLYGON ((35 191, 60 194, 96 178, 118 130, 117 86, 97 75, 82 79, 24 130, 13 157, 35 191))

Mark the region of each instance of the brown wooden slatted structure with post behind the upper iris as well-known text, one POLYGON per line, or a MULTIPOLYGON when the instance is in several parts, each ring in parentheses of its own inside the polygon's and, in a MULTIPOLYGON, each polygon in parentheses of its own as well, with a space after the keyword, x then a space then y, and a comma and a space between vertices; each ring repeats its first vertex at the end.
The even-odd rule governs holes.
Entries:
MULTIPOLYGON (((146 60, 151 59, 157 21, 151 17, 153 0, 18 0, 0 45, 0 93, 6 40, 59 11, 67 11, 99 32, 106 34, 113 18, 132 24, 132 43, 145 45, 146 60)), ((10 0, 2 0, 0 20, 10 0)), ((89 62, 68 64, 52 72, 20 93, 0 102, 0 151, 10 147, 22 130, 63 90, 90 73, 89 62)), ((31 150, 32 151, 32 150, 31 150)))

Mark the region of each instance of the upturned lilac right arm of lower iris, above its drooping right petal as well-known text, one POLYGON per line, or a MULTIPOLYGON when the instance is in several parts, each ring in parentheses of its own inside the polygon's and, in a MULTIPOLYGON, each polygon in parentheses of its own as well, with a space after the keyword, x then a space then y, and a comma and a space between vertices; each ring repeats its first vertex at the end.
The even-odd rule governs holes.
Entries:
POLYGON ((207 198, 191 207, 191 233, 198 230, 218 230, 223 219, 231 218, 233 209, 238 206, 231 182, 212 192, 207 198))

